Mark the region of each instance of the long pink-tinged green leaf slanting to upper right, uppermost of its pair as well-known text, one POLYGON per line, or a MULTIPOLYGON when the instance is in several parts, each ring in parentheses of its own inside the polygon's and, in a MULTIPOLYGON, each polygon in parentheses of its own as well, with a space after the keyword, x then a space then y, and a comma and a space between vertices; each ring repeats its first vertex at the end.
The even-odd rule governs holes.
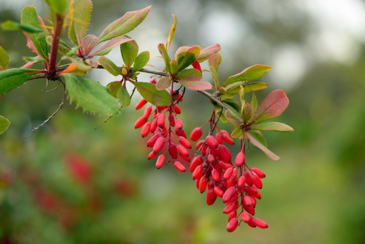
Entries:
POLYGON ((108 25, 98 37, 97 43, 126 34, 137 27, 147 16, 151 6, 137 11, 126 12, 121 18, 108 25))

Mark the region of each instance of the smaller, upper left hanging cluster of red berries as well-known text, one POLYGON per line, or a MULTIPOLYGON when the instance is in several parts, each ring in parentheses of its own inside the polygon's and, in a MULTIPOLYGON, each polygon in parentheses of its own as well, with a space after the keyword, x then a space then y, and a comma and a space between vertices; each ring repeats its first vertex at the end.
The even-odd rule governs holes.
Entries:
MULTIPOLYGON (((150 83, 156 83, 155 79, 151 79, 150 83)), ((151 153, 148 155, 148 159, 153 159, 156 157, 162 149, 164 149, 165 144, 167 144, 167 149, 161 153, 156 161, 156 168, 160 169, 166 160, 166 154, 168 154, 168 161, 173 162, 174 166, 181 172, 185 172, 185 167, 179 161, 173 161, 172 159, 177 159, 178 155, 187 162, 190 162, 190 155, 188 149, 191 149, 191 144, 187 140, 187 136, 183 130, 183 123, 180 119, 177 119, 177 114, 180 113, 180 108, 176 102, 181 102, 182 94, 179 91, 171 90, 171 103, 169 106, 147 106, 143 112, 143 116, 140 117, 134 124, 135 128, 142 127, 141 136, 146 137, 151 132, 151 138, 147 141, 147 147, 152 147, 151 153), (149 121, 149 117, 153 111, 153 117, 149 121), (168 126, 166 126, 166 118, 168 120, 168 126), (172 131, 172 127, 175 130, 172 131), (177 142, 172 138, 172 135, 177 137, 177 142)), ((142 98, 136 105, 136 109, 141 109, 147 101, 142 98)))

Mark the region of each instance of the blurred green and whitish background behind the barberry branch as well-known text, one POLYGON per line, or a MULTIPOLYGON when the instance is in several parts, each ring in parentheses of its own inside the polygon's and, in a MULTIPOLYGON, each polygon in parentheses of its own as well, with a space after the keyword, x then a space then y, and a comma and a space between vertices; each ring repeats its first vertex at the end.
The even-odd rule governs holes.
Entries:
MULTIPOLYGON (((0 4, 0 22, 19 21, 27 4, 47 16, 40 0, 0 4)), ((0 135, 0 243, 365 243, 364 1, 93 4, 88 34, 96 35, 125 12, 153 5, 128 35, 140 52, 150 51, 156 69, 163 69, 155 56, 172 13, 177 29, 170 54, 182 45, 218 42, 222 81, 253 64, 273 67, 260 79, 269 87, 257 93, 258 100, 283 89, 290 104, 274 121, 295 132, 264 134, 269 149, 281 157, 278 162, 253 146, 246 155, 249 166, 266 173, 255 217, 269 228, 241 225, 227 233, 224 204, 218 199, 207 206, 190 172, 173 165, 157 170, 155 161, 147 160, 146 139, 134 129, 143 113, 134 109, 138 94, 96 130, 107 115, 82 113, 66 101, 49 123, 24 139, 57 109, 63 93, 61 88, 47 93, 57 84, 46 88, 45 80, 32 80, 0 100, 0 115, 11 121, 0 135)), ((21 32, 0 30, 0 45, 11 59, 9 68, 32 56, 21 32)), ((122 64, 118 48, 107 57, 122 64)), ((88 76, 104 85, 115 80, 103 70, 88 76)), ((148 80, 149 75, 141 76, 140 81, 148 80)), ((210 102, 192 91, 180 108, 187 134, 212 111, 210 102)), ((230 149, 238 151, 238 145, 230 149)))

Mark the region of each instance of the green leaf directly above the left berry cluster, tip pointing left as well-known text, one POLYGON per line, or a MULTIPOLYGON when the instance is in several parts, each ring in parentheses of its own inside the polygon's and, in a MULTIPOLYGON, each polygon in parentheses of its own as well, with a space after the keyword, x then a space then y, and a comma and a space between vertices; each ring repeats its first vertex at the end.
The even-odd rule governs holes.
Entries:
POLYGON ((166 90, 159 91, 156 86, 149 82, 130 82, 137 88, 139 94, 153 105, 168 106, 171 96, 166 90))

